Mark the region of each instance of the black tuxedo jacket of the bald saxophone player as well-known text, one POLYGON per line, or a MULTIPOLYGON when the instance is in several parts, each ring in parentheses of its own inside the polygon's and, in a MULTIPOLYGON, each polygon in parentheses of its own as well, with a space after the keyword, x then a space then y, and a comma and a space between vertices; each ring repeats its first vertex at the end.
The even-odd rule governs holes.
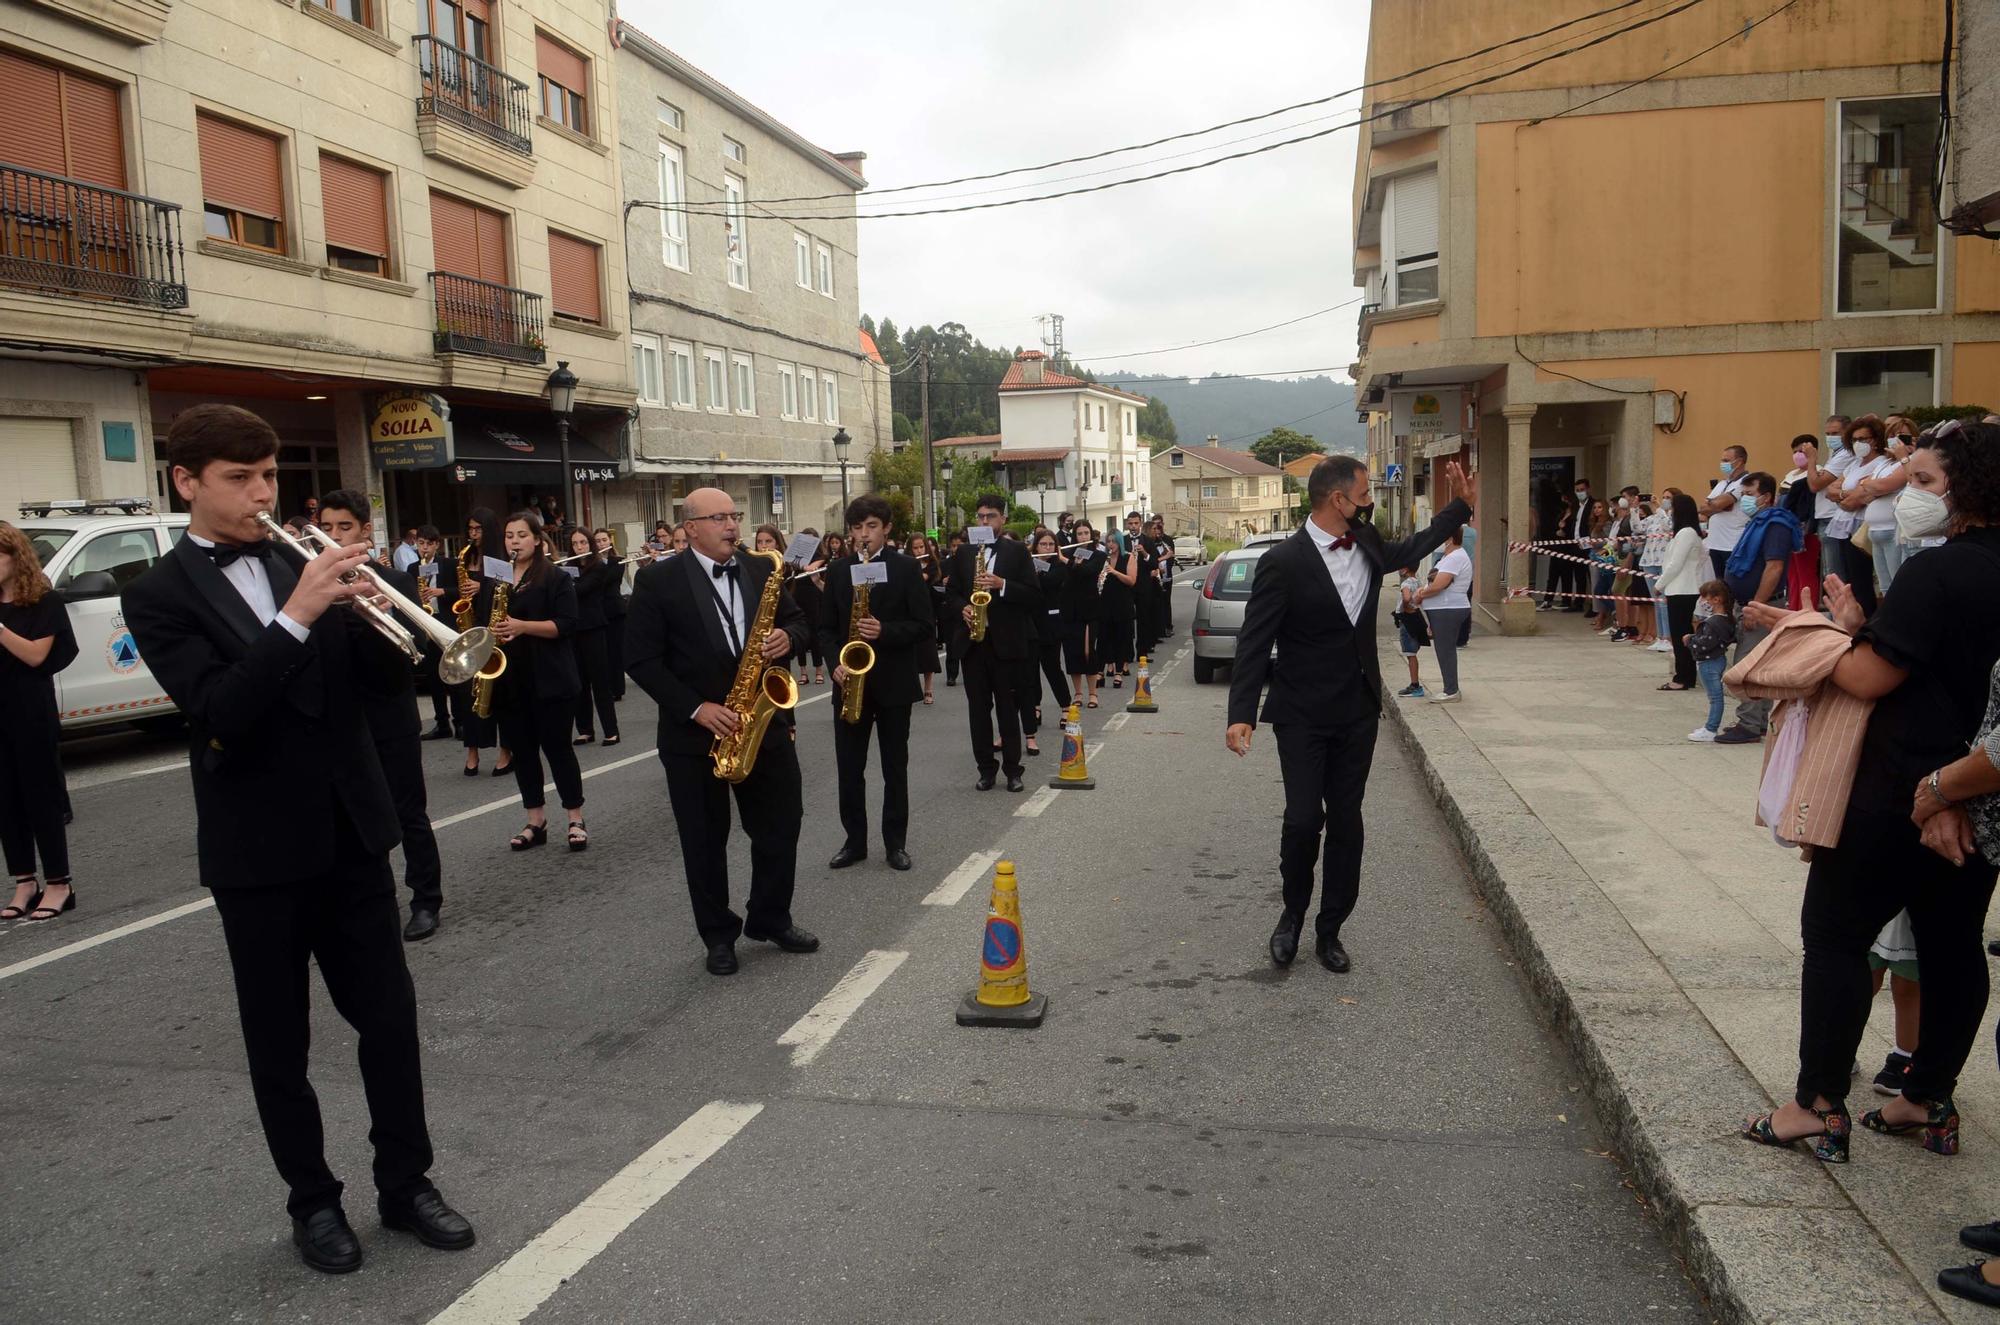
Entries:
MULTIPOLYGON (((768 556, 738 556, 738 590, 744 598, 744 630, 756 620, 768 556)), ((738 652, 722 630, 716 610, 716 580, 694 554, 656 560, 638 572, 626 608, 626 673, 660 705, 660 753, 706 755, 714 737, 694 721, 704 703, 720 705, 736 683, 738 652)), ((806 614, 788 594, 778 598, 778 628, 798 652, 806 642, 806 614)), ((786 654, 790 656, 790 654, 786 654)), ((772 667, 782 667, 778 658, 772 667)), ((766 741, 790 741, 792 715, 770 725, 766 741)))

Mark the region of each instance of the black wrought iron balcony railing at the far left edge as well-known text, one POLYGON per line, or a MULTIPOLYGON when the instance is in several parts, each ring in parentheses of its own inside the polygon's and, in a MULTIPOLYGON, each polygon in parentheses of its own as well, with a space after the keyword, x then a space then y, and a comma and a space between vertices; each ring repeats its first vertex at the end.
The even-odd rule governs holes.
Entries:
POLYGON ((0 284, 186 308, 180 204, 0 164, 0 284))

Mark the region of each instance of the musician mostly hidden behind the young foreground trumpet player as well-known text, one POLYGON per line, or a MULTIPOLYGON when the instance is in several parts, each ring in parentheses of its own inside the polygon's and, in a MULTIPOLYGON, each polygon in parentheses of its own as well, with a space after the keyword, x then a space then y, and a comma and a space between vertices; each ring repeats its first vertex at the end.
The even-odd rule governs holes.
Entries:
MULTIPOLYGON (((326 492, 320 496, 320 528, 344 548, 372 548, 374 520, 368 496, 352 488, 326 492)), ((416 580, 404 570, 376 566, 376 574, 416 602, 416 580)), ((386 675, 386 685, 362 685, 358 697, 376 743, 376 757, 382 761, 382 777, 388 779, 390 801, 396 803, 396 823, 402 825, 402 881, 410 889, 410 923, 402 927, 402 939, 418 943, 438 933, 444 867, 438 861, 438 837, 430 831, 430 797, 424 791, 424 747, 416 735, 422 729, 416 717, 416 675, 408 667, 398 669, 386 675)))

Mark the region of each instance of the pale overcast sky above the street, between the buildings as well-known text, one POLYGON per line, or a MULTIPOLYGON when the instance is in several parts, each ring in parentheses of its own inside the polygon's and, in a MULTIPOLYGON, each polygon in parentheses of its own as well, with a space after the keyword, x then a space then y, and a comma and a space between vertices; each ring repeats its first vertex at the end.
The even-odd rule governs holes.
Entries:
MULTIPOLYGON (((1366 0, 846 0, 834 8, 622 0, 618 12, 804 138, 836 152, 868 152, 876 188, 1038 164, 1326 96, 1362 80, 1368 22, 1366 0)), ((1054 176, 1154 160, 1270 126, 1314 120, 1302 130, 1312 132, 1350 122, 1356 102, 1348 96, 1268 124, 1022 178, 1044 182, 1028 192, 1048 192, 1054 176)), ((1152 168, 1192 160, 1202 156, 1152 168)), ((1354 300, 1352 184, 1354 132, 1344 130, 1082 198, 864 220, 862 312, 898 326, 956 318, 986 344, 1006 346, 1036 344, 1034 316, 1060 312, 1068 352, 1094 370, 1332 366, 1346 380, 1358 302, 1232 344, 1092 356, 1210 340, 1354 300)), ((758 192, 754 182, 750 192, 758 192)))

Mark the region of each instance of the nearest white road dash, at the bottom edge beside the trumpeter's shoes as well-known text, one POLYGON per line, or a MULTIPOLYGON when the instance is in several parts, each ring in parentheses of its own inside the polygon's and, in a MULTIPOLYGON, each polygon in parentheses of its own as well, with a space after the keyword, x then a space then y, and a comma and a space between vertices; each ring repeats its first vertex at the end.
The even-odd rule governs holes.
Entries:
POLYGON ((714 1101, 620 1169, 532 1243, 480 1275, 430 1325, 516 1325, 740 1133, 764 1105, 714 1101))

